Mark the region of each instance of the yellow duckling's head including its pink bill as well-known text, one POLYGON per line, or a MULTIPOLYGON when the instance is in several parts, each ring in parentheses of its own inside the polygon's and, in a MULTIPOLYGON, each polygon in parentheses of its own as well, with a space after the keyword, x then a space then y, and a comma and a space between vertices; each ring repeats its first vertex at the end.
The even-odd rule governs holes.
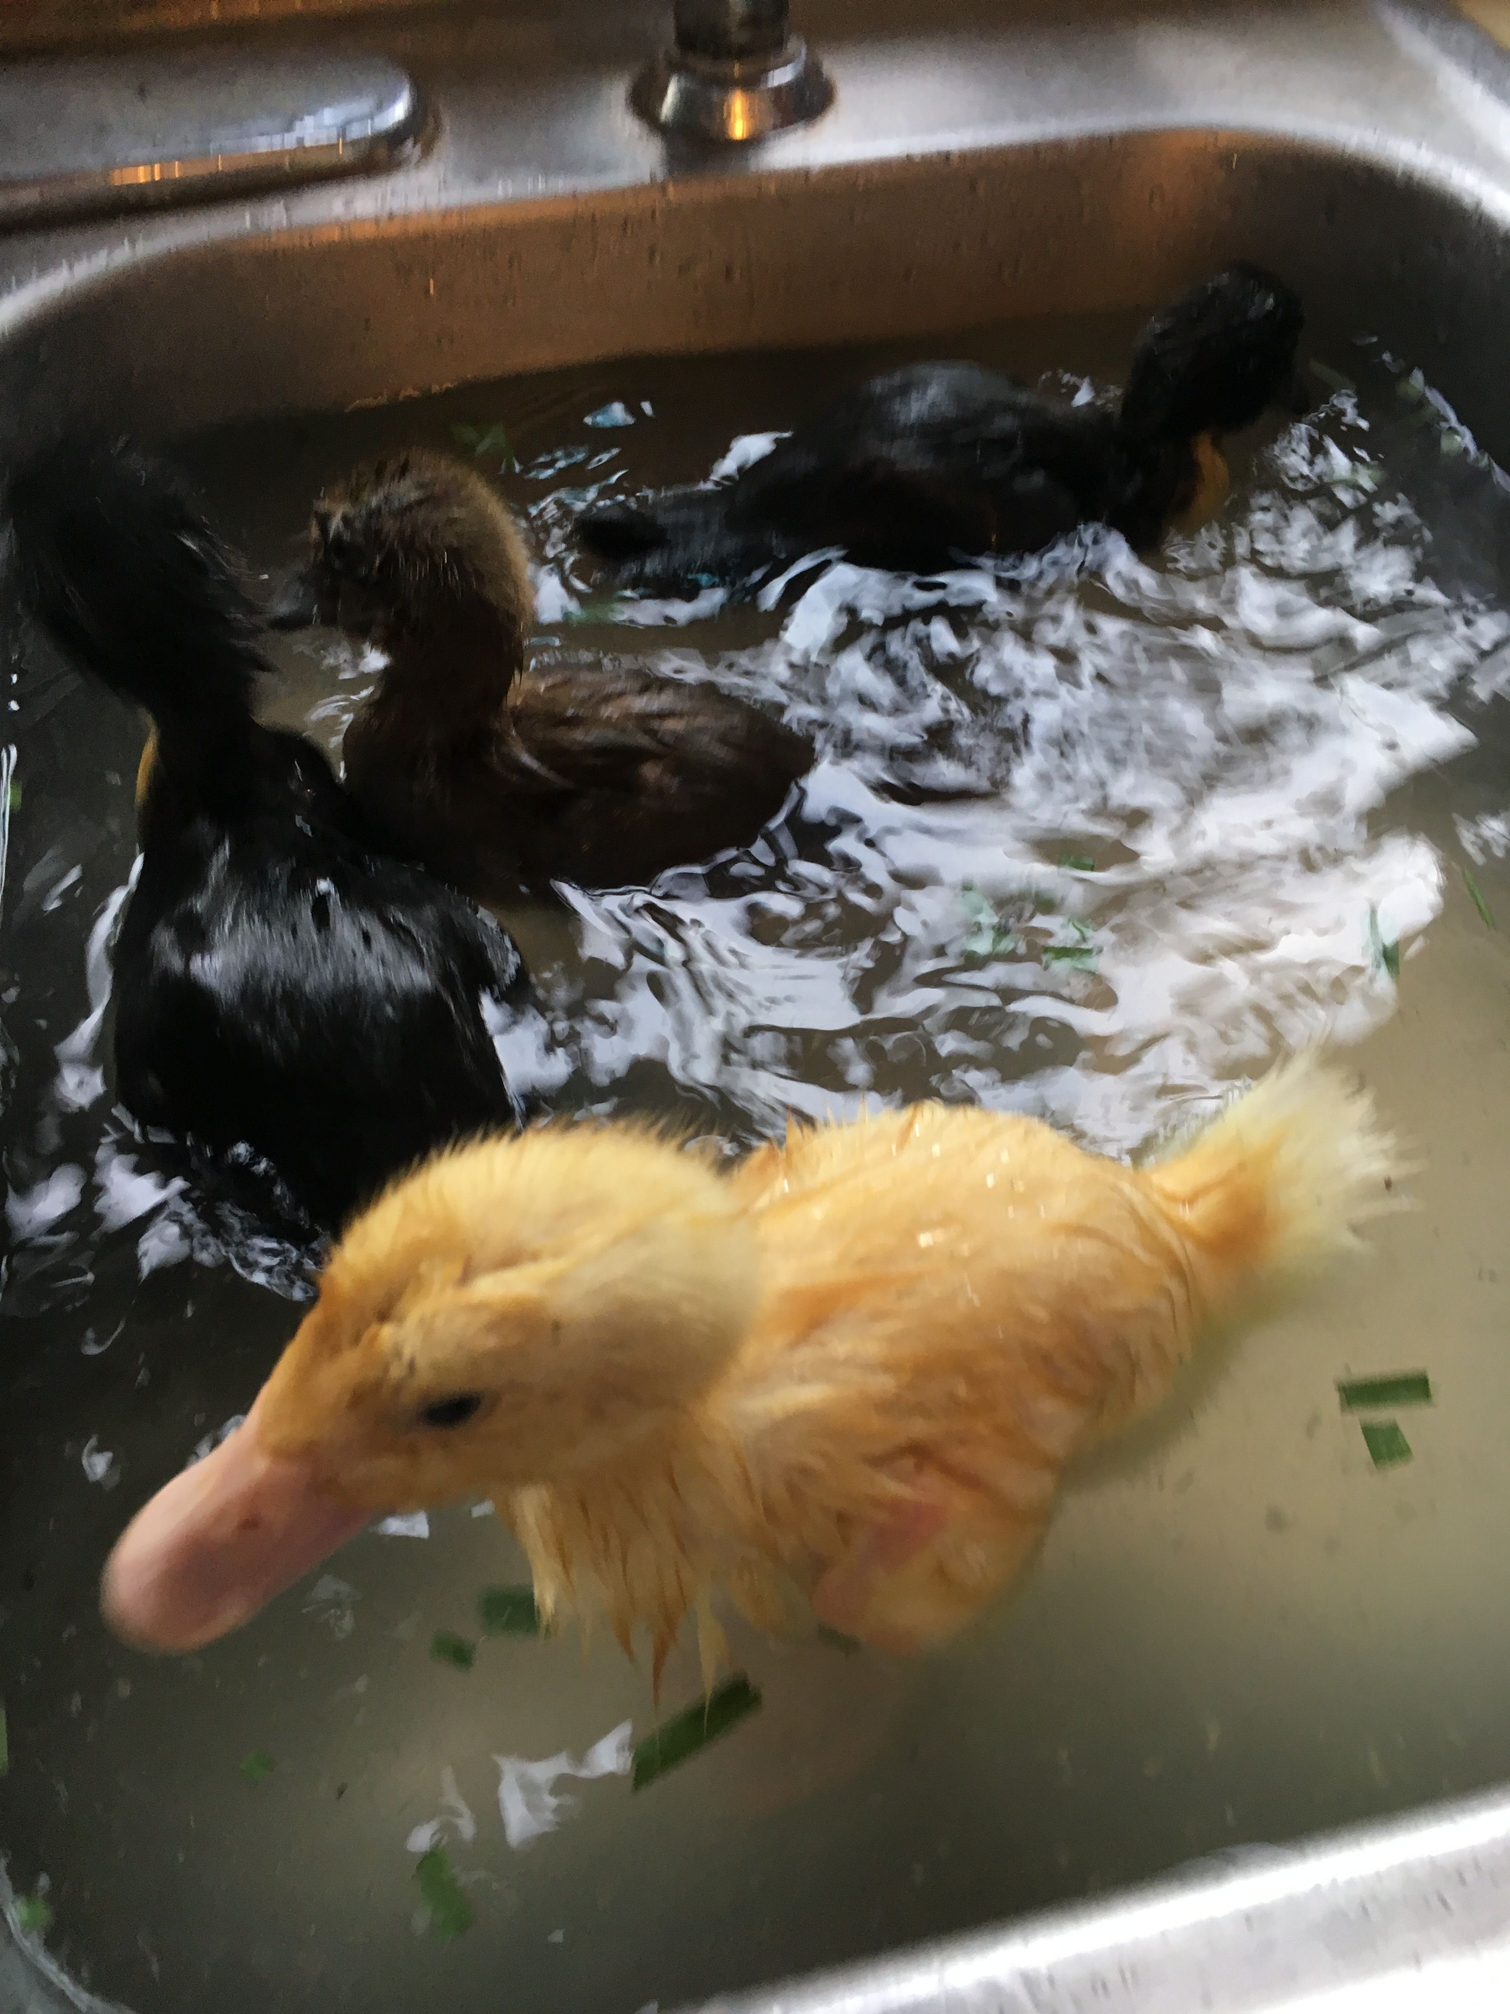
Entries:
POLYGON ((556 1126, 379 1198, 246 1422, 135 1517, 111 1627, 193 1649, 374 1515, 582 1476, 674 1428, 733 1361, 755 1247, 697 1154, 556 1126))

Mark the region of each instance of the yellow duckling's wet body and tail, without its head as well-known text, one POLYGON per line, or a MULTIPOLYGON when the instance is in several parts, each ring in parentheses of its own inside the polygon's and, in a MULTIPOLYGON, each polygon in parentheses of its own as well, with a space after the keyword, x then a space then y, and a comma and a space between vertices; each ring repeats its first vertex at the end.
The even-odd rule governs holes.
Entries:
POLYGON ((1218 1323, 1355 1243, 1399 1172, 1367 1094, 1287 1065, 1150 1168, 1011 1114, 797 1130, 733 1176, 761 1297, 676 1436, 523 1492, 550 1599, 660 1651, 721 1583, 870 1643, 946 1637, 1027 1563, 1077 1450, 1218 1323))

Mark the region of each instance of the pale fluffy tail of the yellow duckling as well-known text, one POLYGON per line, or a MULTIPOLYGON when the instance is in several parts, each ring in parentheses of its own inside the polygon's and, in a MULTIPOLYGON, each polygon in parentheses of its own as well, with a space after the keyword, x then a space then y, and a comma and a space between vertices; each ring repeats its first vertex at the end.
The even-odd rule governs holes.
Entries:
POLYGON ((1222 1315, 1357 1247, 1357 1225, 1401 1208, 1393 1190, 1407 1172, 1373 1094, 1307 1053, 1144 1178, 1180 1231, 1200 1297, 1222 1315))

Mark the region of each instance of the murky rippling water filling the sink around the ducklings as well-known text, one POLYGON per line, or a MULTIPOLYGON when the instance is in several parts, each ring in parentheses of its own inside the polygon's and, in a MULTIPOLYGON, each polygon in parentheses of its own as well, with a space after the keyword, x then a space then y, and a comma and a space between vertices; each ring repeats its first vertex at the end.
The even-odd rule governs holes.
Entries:
MULTIPOLYGON (((1073 367, 1073 393, 1127 338, 964 348, 1073 367)), ((640 1794, 566 1772, 656 1720, 612 1643, 431 1658, 521 1577, 467 1504, 368 1533, 199 1658, 103 1631, 105 1551, 246 1408, 308 1255, 113 1110, 141 729, 40 646, 16 663, 0 1845, 95 1992, 137 2014, 668 2010, 1510 1772, 1510 953, 1464 878, 1510 924, 1506 503, 1397 365, 1319 354, 1357 389, 1317 381, 1325 407, 1246 443, 1222 514, 1152 564, 1101 536, 932 584, 817 562, 729 608, 604 610, 570 512, 701 475, 878 352, 598 367, 187 443, 272 568, 320 479, 501 423, 538 655, 713 677, 815 735, 801 802, 751 852, 509 916, 566 1033, 536 1063, 564 1106, 749 1140, 787 1110, 934 1094, 1119 1152, 1333 1031, 1427 1156, 1365 1263, 1081 1470, 966 1641, 898 1664, 737 1631, 763 1712, 640 1794), (1436 1404, 1399 1416, 1413 1460, 1375 1472, 1335 1378, 1415 1368, 1436 1404), (435 1841, 477 1913, 449 1946, 417 1927, 435 1841)), ((370 667, 324 638, 280 663, 270 711, 334 747, 370 667)), ((695 1694, 678 1653, 660 1712, 695 1694)))

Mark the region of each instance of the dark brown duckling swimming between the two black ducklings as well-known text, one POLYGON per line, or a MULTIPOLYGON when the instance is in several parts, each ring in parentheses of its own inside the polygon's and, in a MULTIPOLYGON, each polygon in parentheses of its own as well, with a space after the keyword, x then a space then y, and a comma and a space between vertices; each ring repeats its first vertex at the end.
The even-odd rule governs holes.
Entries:
POLYGON ((346 783, 391 846, 459 888, 648 882, 749 844, 807 771, 801 735, 717 687, 614 663, 525 671, 532 618, 507 506, 423 449, 318 499, 310 560, 268 610, 387 655, 346 729, 346 783))

